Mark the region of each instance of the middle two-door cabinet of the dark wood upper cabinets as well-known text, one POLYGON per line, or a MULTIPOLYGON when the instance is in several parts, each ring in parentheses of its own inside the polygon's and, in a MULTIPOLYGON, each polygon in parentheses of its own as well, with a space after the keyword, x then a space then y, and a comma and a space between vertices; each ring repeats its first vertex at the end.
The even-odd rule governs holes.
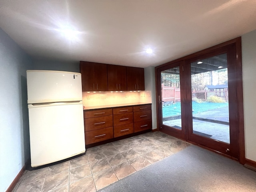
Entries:
POLYGON ((126 91, 126 66, 107 65, 108 66, 108 90, 126 91))

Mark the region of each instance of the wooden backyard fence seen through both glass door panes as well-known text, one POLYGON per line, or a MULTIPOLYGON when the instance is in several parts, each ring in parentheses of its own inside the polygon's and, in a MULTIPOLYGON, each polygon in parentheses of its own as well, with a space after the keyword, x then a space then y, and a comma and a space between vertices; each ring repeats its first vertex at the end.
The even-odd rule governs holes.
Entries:
MULTIPOLYGON (((222 100, 228 101, 228 90, 192 92, 192 100, 207 101, 210 96, 218 96, 222 100)), ((180 89, 162 85, 162 100, 164 104, 180 102, 180 89)))

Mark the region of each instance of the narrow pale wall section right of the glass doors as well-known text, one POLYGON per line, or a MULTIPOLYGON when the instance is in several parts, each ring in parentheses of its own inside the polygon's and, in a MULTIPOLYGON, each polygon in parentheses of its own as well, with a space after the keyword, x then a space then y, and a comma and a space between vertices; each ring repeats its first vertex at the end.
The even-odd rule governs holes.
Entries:
POLYGON ((256 161, 256 30, 242 36, 245 157, 256 161))

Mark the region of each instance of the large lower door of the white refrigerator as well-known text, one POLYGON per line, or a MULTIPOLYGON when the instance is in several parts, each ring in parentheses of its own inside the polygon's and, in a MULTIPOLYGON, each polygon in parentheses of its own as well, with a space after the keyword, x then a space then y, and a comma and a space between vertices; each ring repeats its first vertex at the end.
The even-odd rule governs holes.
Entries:
POLYGON ((28 105, 31 166, 85 152, 82 102, 28 105))

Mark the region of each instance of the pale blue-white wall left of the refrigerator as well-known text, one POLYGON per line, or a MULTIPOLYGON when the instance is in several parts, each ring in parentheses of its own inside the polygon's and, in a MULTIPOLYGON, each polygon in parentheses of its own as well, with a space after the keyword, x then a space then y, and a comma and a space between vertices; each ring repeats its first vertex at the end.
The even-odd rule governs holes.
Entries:
POLYGON ((0 191, 30 158, 26 69, 31 58, 0 28, 0 191))

